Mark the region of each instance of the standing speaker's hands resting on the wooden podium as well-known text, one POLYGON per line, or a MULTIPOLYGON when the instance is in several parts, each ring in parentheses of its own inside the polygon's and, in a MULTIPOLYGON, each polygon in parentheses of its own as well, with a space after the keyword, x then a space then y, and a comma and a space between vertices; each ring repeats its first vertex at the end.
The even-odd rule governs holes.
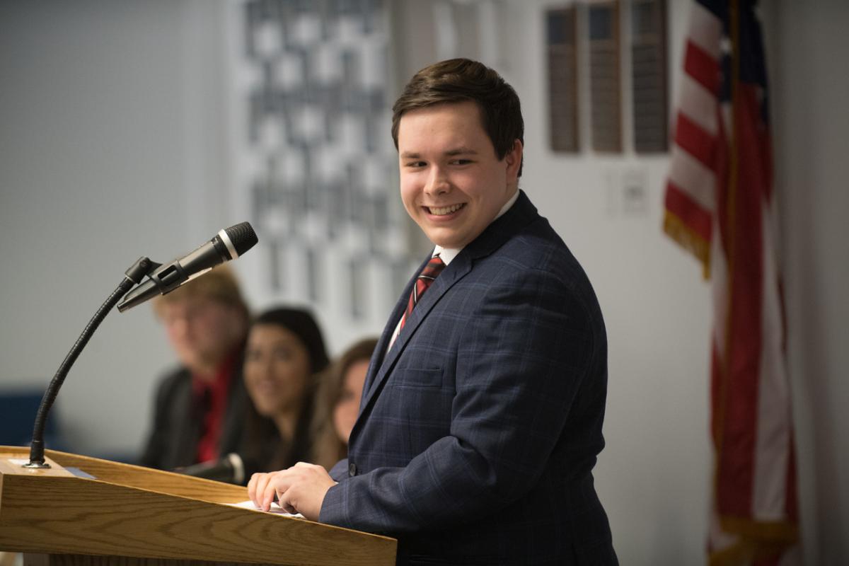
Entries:
POLYGON ((318 521, 324 496, 334 485, 336 482, 321 466, 298 462, 279 472, 250 476, 248 496, 256 507, 267 511, 276 495, 284 511, 318 521))

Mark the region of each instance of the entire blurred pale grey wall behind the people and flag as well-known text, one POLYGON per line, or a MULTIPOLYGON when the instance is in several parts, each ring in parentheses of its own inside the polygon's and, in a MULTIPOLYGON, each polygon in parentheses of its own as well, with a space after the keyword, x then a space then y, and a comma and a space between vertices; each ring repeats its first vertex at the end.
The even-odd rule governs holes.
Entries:
MULTIPOLYGON (((366 4, 376 3, 339 3, 366 4)), ((710 287, 661 232, 668 155, 635 154, 627 140, 621 154, 549 149, 544 13, 569 3, 388 4, 390 105, 415 70, 457 55, 491 64, 520 94, 520 186, 582 261, 607 322, 608 446, 596 479, 621 563, 703 562, 710 287)), ((222 227, 255 220, 238 151, 245 77, 234 62, 241 52, 233 26, 243 8, 202 0, 0 0, 0 389, 43 389, 138 256, 166 261, 222 227)), ((672 103, 687 14, 687 3, 668 3, 672 103)), ((844 564, 849 73, 841 59, 849 53, 849 3, 778 0, 762 15, 803 546, 809 564, 844 564)), ((629 112, 625 104, 626 126, 629 112)), ((581 122, 586 130, 586 117, 581 122)), ((388 130, 379 133, 389 139, 388 130)), ((414 230, 398 230, 404 249, 420 249, 414 230)), ((389 308, 381 301, 391 305, 400 289, 386 283, 394 282, 390 272, 369 272, 372 280, 385 277, 368 312, 342 316, 332 298, 311 302, 262 283, 268 255, 261 246, 233 264, 256 310, 280 300, 311 304, 334 353, 380 331, 389 308)), ((155 379, 173 361, 147 306, 107 317, 53 416, 66 447, 132 458, 155 379)))

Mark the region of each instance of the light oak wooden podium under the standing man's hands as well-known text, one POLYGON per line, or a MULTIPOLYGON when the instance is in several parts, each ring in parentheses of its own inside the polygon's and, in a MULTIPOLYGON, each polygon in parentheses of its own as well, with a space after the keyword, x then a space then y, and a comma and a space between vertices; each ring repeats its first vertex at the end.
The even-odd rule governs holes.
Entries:
POLYGON ((170 472, 0 446, 0 551, 25 564, 391 566, 396 540, 228 503, 247 490, 170 472))

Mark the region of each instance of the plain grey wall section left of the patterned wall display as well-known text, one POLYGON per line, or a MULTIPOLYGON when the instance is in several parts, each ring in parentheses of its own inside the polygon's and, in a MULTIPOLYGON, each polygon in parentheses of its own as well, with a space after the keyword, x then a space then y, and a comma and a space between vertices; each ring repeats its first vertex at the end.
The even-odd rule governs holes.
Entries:
MULTIPOLYGON (((222 193, 210 18, 170 0, 0 3, 3 388, 45 387, 140 255, 222 227, 200 198, 222 193)), ((149 308, 110 314, 57 403, 72 446, 136 452, 172 359, 149 308)))

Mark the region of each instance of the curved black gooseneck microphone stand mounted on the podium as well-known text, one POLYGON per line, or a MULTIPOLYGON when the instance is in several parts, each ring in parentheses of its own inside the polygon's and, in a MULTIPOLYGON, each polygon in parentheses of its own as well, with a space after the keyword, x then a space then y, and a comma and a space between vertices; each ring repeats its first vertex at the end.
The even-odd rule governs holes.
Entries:
POLYGON ((88 322, 86 328, 80 334, 80 338, 76 339, 76 343, 70 349, 68 355, 65 356, 65 361, 62 361, 62 365, 59 366, 59 370, 53 376, 53 380, 50 382, 47 391, 44 392, 42 404, 38 406, 36 423, 32 429, 30 462, 25 463, 24 468, 50 468, 50 464, 44 461, 44 425, 47 423, 48 412, 50 411, 50 407, 53 406, 53 401, 56 401, 56 395, 59 395, 59 388, 62 387, 65 376, 68 375, 70 367, 74 365, 76 358, 80 356, 80 352, 86 347, 88 340, 91 339, 92 334, 98 329, 100 322, 103 322, 106 315, 112 310, 112 307, 117 305, 121 297, 127 294, 133 286, 141 283, 144 277, 148 276, 159 266, 160 264, 150 261, 149 258, 138 258, 138 261, 124 274, 124 279, 118 285, 118 288, 110 294, 109 299, 94 313, 92 320, 88 322))

